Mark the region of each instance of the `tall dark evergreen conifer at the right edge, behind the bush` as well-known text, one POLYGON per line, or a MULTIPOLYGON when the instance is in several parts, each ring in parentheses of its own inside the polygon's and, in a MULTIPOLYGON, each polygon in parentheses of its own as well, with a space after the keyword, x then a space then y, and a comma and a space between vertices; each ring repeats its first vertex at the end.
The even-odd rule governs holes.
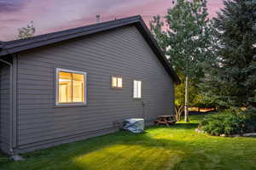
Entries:
POLYGON ((205 69, 204 99, 256 109, 256 0, 224 1, 213 26, 216 54, 205 69))

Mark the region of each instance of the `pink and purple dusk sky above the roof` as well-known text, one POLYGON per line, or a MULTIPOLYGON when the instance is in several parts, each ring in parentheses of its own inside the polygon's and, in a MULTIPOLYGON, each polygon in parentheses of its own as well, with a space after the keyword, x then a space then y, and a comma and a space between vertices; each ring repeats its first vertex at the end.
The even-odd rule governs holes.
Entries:
MULTIPOLYGON (((141 14, 148 24, 153 15, 164 16, 172 0, 0 0, 0 41, 13 40, 17 29, 34 21, 36 35, 96 22, 141 14)), ((223 0, 208 0, 210 17, 223 7, 223 0)))

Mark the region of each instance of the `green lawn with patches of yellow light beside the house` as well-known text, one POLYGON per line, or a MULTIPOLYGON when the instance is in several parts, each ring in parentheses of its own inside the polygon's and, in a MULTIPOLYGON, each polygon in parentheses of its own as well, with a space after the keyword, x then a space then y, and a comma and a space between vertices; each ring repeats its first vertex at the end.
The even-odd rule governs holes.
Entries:
POLYGON ((0 169, 256 169, 255 138, 212 137, 195 133, 202 116, 146 133, 118 132, 24 155, 26 161, 0 156, 0 169))

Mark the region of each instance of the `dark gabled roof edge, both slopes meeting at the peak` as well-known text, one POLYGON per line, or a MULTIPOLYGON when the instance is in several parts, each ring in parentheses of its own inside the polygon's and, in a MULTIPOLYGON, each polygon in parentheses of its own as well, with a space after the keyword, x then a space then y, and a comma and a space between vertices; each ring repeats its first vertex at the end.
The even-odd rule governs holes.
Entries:
POLYGON ((149 46, 153 49, 154 54, 156 54, 156 56, 160 59, 160 62, 164 65, 168 74, 173 78, 174 82, 179 84, 180 79, 177 77, 176 72, 172 69, 172 65, 170 65, 169 61, 166 59, 165 54, 163 54, 158 43, 148 30, 148 27, 145 25, 140 15, 97 23, 90 26, 82 26, 65 31, 57 31, 35 37, 28 37, 15 41, 0 42, 0 57, 7 54, 15 54, 26 49, 38 48, 47 44, 61 42, 75 37, 82 37, 101 31, 108 31, 122 26, 137 26, 137 29, 142 33, 149 46))

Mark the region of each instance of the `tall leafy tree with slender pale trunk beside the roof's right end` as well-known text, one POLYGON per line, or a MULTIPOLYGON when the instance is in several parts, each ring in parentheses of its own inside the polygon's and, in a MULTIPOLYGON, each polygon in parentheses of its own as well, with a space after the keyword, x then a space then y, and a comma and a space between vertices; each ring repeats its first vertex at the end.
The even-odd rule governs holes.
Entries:
POLYGON ((185 122, 189 122, 189 82, 203 76, 201 62, 210 54, 207 0, 177 0, 166 14, 166 31, 160 16, 154 16, 150 28, 174 69, 183 75, 185 122))

